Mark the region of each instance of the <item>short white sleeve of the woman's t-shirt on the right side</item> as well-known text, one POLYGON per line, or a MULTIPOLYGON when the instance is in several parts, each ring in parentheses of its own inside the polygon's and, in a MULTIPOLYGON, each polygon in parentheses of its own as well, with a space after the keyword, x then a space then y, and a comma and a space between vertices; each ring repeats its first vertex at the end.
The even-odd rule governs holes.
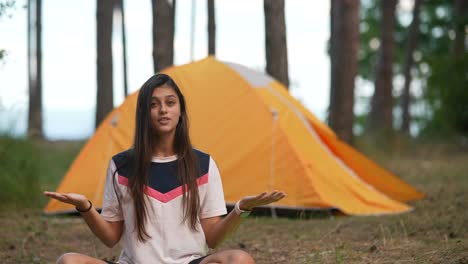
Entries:
POLYGON ((215 161, 210 157, 206 193, 200 199, 200 218, 220 216, 226 213, 226 202, 224 201, 221 175, 219 174, 218 166, 215 161))

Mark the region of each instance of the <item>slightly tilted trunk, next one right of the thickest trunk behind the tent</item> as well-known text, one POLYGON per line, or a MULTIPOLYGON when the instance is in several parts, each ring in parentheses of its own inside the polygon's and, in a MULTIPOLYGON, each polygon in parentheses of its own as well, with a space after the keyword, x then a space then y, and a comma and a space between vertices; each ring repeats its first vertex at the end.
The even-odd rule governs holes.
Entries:
POLYGON ((395 40, 396 0, 381 1, 382 20, 380 32, 380 54, 377 61, 374 96, 372 97, 369 127, 373 132, 392 131, 393 129, 393 54, 395 40))

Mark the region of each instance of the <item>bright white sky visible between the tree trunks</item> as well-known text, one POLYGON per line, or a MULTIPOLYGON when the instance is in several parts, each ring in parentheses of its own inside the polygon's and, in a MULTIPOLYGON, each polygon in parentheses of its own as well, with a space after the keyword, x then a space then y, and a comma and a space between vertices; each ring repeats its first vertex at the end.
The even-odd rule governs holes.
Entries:
MULTIPOLYGON (((195 2, 194 60, 207 56, 206 1, 195 2)), ((329 103, 329 2, 285 1, 291 94, 324 119, 329 103)), ((0 130, 24 134, 28 105, 27 10, 18 0, 0 18, 0 130)), ((263 0, 215 1, 216 57, 264 72, 263 0)), ((150 0, 125 1, 130 92, 152 74, 150 0)), ((174 63, 191 62, 191 0, 177 0, 174 63)), ((115 25, 120 25, 117 19, 115 25)), ((49 139, 85 138, 94 131, 96 1, 43 0, 43 118, 49 139)), ((124 100, 120 28, 114 31, 114 106, 124 100)))

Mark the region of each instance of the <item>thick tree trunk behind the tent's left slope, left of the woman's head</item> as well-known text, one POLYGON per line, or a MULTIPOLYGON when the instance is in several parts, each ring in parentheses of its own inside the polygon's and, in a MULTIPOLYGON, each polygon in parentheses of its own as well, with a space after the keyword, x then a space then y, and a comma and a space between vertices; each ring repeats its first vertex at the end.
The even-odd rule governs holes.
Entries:
POLYGON ((113 0, 97 0, 96 128, 113 108, 112 18, 113 0))

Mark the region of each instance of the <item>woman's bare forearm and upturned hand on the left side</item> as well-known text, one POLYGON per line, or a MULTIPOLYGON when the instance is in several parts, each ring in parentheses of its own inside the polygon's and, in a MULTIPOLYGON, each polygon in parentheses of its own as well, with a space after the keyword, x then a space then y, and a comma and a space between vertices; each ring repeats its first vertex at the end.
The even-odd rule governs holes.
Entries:
POLYGON ((105 220, 84 195, 57 192, 44 192, 44 195, 60 202, 72 204, 79 211, 87 210, 91 206, 92 208, 90 210, 81 213, 81 216, 86 224, 88 224, 91 231, 110 248, 119 242, 122 236, 123 221, 111 222, 105 220))

